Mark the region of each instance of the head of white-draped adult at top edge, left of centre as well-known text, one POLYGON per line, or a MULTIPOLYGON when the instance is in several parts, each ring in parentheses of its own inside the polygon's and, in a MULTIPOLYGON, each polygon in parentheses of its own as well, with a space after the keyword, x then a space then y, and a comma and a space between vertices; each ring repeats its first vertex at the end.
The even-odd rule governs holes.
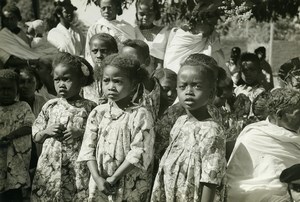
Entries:
POLYGON ((106 20, 115 20, 117 15, 122 15, 121 0, 99 0, 100 12, 106 20))

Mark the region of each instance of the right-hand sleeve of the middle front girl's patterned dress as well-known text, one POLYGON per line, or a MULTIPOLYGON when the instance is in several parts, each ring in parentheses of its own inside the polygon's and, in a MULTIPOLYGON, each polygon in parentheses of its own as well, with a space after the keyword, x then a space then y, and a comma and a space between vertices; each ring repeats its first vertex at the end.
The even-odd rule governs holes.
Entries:
POLYGON ((147 170, 154 153, 154 124, 150 112, 141 108, 132 124, 132 142, 126 160, 138 168, 147 170))

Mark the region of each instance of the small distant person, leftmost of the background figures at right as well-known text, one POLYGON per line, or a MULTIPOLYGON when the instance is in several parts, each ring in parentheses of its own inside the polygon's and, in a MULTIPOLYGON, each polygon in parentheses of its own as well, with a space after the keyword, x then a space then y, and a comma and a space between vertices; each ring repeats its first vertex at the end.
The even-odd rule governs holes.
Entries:
POLYGON ((241 49, 239 47, 233 47, 231 49, 230 59, 226 62, 226 66, 229 68, 231 79, 233 84, 236 86, 238 81, 241 79, 240 68, 238 61, 241 57, 241 49))

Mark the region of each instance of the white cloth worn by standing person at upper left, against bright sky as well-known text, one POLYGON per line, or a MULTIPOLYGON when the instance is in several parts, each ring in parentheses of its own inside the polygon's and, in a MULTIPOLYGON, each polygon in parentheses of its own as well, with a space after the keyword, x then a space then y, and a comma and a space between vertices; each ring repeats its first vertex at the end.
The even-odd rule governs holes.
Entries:
POLYGON ((47 40, 61 52, 68 52, 72 55, 84 55, 84 37, 75 27, 67 29, 61 23, 51 29, 47 40))

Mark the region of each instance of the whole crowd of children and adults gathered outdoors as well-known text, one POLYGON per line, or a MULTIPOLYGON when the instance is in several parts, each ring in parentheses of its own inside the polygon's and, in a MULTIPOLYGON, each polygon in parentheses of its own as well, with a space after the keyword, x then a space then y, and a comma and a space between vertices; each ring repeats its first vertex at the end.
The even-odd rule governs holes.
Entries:
POLYGON ((138 0, 133 27, 100 0, 86 36, 54 5, 1 11, 0 201, 300 200, 299 58, 274 88, 264 47, 225 62, 209 5, 162 27, 138 0))

